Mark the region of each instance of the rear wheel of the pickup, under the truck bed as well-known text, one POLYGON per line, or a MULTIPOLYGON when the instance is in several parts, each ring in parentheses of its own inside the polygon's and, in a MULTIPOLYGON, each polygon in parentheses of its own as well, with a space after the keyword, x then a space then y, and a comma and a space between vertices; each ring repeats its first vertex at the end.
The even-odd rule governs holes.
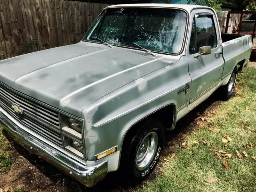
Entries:
POLYGON ((237 69, 237 67, 235 67, 228 83, 221 87, 220 90, 222 92, 222 94, 221 94, 222 100, 228 100, 232 96, 232 94, 234 92, 234 88, 236 86, 237 73, 238 73, 238 69, 237 69))

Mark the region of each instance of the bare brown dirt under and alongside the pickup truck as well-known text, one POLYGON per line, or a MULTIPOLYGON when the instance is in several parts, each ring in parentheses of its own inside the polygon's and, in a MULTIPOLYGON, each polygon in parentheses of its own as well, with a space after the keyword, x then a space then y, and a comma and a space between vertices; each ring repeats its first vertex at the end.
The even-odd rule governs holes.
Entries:
MULTIPOLYGON (((176 129, 166 132, 166 145, 160 164, 156 170, 150 175, 148 180, 156 177, 160 173, 162 159, 168 154, 176 152, 176 145, 184 140, 184 137, 200 128, 203 122, 200 117, 207 116, 207 112, 214 111, 219 107, 221 101, 218 93, 215 92, 210 98, 192 110, 182 120, 177 122, 176 129)), ((14 191, 14 189, 22 189, 21 191, 36 192, 80 192, 78 182, 63 174, 60 170, 51 166, 36 155, 30 154, 19 144, 12 140, 6 132, 4 135, 12 146, 12 159, 14 164, 5 174, 0 175, 0 191, 14 191)), ((96 187, 86 189, 86 191, 102 191, 102 192, 127 192, 140 188, 141 185, 131 186, 120 180, 119 172, 109 173, 107 177, 96 187)))

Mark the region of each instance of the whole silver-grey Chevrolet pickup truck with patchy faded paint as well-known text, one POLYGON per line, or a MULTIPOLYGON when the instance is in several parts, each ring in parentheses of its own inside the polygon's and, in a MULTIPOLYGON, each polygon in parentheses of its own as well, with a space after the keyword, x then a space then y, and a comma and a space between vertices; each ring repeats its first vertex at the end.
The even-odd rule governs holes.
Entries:
POLYGON ((79 43, 0 62, 0 120, 85 186, 118 169, 140 182, 166 129, 217 88, 230 98, 251 38, 221 34, 205 6, 109 6, 79 43))

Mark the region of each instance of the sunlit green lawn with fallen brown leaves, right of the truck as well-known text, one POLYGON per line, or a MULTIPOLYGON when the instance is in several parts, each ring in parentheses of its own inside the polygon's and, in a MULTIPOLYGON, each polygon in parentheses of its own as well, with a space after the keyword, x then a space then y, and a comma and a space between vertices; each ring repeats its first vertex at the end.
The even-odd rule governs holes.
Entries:
MULTIPOLYGON (((208 118, 201 128, 186 137, 186 149, 177 146, 177 157, 165 157, 161 174, 156 179, 144 183, 139 192, 238 192, 256 191, 256 68, 244 69, 239 74, 236 97, 222 102, 216 114, 208 118), (210 132, 206 128, 212 128, 210 132), (222 142, 226 134, 232 141, 225 146, 222 142), (204 145, 202 140, 207 140, 204 145), (199 142, 193 145, 192 141, 199 142), (243 144, 253 144, 253 148, 244 148, 243 144), (230 170, 222 165, 225 159, 217 159, 210 149, 223 150, 232 154, 228 159, 230 170), (238 158, 236 150, 243 154, 238 158), (214 183, 205 182, 214 178, 214 183)), ((220 154, 220 153, 219 153, 220 154)))

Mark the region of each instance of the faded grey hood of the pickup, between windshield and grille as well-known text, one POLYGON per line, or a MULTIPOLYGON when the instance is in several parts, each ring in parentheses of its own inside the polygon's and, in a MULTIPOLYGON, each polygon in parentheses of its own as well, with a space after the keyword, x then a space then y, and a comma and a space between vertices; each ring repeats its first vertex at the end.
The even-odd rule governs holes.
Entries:
POLYGON ((168 64, 145 52, 80 42, 3 60, 0 81, 80 117, 92 102, 168 64))

